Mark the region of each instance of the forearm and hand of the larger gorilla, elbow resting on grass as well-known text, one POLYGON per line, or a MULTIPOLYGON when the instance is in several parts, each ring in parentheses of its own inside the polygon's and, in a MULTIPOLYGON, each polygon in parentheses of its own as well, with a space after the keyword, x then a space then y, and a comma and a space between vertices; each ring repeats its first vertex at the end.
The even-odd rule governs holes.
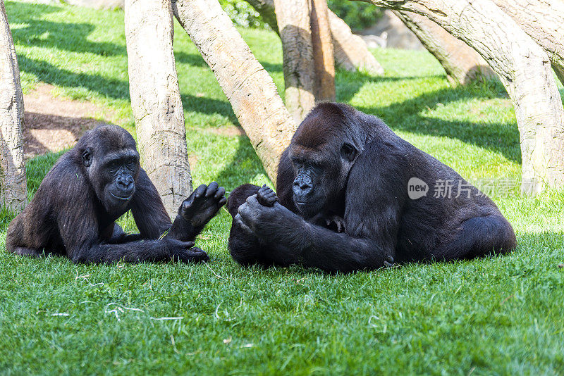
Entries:
MULTIPOLYGON (((250 196, 240 206, 235 221, 266 245, 269 256, 276 263, 302 263, 327 271, 350 272, 376 269, 393 263, 395 239, 352 237, 308 223, 279 203, 262 206, 256 196, 250 196)), ((393 213, 393 211, 388 211, 393 213)), ((391 228, 396 215, 386 221, 391 228)), ((363 225, 362 223, 360 224, 363 225)), ((370 232, 372 234, 379 234, 370 232)), ((363 231, 365 232, 365 230, 363 231)))

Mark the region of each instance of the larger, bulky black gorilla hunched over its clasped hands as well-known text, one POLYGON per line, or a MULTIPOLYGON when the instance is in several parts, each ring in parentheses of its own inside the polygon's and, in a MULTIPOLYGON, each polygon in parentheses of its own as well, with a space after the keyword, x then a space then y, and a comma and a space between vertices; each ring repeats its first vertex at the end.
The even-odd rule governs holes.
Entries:
POLYGON ((515 248, 494 202, 379 118, 345 104, 319 104, 307 115, 281 157, 277 187, 279 203, 268 187, 250 184, 229 196, 235 261, 351 271, 515 248), (431 192, 439 182, 452 191, 410 199, 414 177, 431 192))

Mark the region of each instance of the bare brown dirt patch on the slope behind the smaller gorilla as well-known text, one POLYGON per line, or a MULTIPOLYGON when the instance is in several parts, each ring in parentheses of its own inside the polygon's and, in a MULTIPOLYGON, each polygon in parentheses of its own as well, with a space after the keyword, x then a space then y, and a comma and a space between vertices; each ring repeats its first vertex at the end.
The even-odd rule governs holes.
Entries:
POLYGON ((61 151, 73 146, 86 132, 104 124, 92 117, 114 117, 114 113, 91 102, 73 101, 52 96, 54 87, 39 84, 23 96, 25 120, 23 129, 25 158, 47 151, 61 151))

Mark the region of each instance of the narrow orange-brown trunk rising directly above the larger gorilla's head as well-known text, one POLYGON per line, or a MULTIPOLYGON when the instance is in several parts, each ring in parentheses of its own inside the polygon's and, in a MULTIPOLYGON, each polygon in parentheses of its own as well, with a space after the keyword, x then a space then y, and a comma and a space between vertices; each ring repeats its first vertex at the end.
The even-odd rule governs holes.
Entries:
POLYGON ((335 101, 335 64, 327 1, 311 0, 311 6, 315 101, 335 101))

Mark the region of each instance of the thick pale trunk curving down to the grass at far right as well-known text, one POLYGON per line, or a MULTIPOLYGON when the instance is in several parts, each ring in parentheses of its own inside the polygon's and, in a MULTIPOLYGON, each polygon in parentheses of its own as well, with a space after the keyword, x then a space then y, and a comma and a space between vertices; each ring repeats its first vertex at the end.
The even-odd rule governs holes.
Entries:
POLYGON ((364 0, 425 15, 476 50, 510 95, 521 135, 522 190, 564 185, 564 110, 548 56, 491 0, 364 0))

